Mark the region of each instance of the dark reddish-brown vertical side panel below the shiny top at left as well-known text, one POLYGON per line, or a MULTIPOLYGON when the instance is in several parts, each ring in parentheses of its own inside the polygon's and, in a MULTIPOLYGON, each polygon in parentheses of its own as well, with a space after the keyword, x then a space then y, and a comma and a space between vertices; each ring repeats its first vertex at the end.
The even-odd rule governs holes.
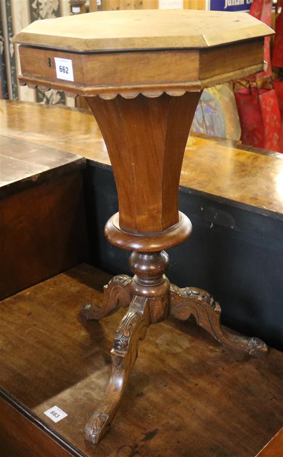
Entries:
POLYGON ((89 258, 81 171, 0 199, 0 297, 89 258))

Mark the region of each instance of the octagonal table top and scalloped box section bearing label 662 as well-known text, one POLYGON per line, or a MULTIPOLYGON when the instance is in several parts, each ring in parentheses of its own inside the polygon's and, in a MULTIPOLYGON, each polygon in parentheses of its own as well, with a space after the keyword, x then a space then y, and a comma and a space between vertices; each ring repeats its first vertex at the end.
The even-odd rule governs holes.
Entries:
POLYGON ((261 71, 263 37, 272 33, 241 12, 99 11, 35 21, 13 42, 21 45, 21 84, 134 98, 183 95, 261 71), (56 57, 72 61, 73 81, 57 78, 56 57))

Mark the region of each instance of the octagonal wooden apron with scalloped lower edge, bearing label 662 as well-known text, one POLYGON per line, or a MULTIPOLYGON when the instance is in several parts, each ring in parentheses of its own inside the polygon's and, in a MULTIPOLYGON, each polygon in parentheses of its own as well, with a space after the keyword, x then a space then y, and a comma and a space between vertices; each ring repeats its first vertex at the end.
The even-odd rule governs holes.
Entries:
POLYGON ((183 95, 220 82, 239 79, 263 67, 264 38, 204 49, 155 49, 80 54, 66 50, 21 45, 20 84, 54 87, 66 93, 134 98, 139 93, 157 97, 163 92, 183 95), (249 50, 249 52, 247 52, 249 50), (55 58, 72 63, 73 79, 57 78, 55 58), (130 65, 129 65, 130 62, 130 65), (217 65, 215 64, 217 62, 217 65), (71 82, 73 81, 73 82, 71 82))

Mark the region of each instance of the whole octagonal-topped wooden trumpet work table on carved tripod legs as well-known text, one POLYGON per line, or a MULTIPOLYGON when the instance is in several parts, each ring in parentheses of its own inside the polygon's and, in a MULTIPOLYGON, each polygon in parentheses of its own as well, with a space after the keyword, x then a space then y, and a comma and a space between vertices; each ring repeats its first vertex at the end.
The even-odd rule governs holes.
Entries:
POLYGON ((105 397, 85 427, 87 441, 98 443, 109 430, 139 340, 169 313, 181 320, 193 315, 222 344, 250 355, 267 353, 258 338, 221 327, 221 308, 208 292, 170 284, 164 249, 192 230, 179 212, 178 190, 202 90, 262 71, 264 37, 272 33, 246 13, 128 10, 36 21, 13 39, 20 44, 21 84, 86 97, 118 194, 119 213, 104 233, 134 251, 134 276, 115 276, 104 287, 104 306, 86 304, 81 311, 85 319, 101 319, 129 307, 115 333, 105 397))

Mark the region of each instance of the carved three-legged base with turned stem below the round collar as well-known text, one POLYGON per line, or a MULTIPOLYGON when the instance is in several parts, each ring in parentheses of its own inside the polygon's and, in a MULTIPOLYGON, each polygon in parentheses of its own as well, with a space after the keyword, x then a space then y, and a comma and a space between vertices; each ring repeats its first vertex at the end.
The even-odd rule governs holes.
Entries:
POLYGON ((145 338, 150 324, 165 320, 169 312, 183 321, 193 315, 198 325, 225 346, 252 356, 267 354, 267 345, 260 339, 235 335, 222 328, 221 308, 208 292, 194 287, 180 289, 170 284, 163 274, 168 265, 165 251, 133 252, 130 267, 135 276, 115 276, 104 286, 104 306, 97 308, 87 304, 81 311, 87 320, 102 319, 120 307, 129 306, 115 333, 112 374, 104 399, 85 427, 87 441, 98 443, 109 430, 136 361, 139 340, 145 338))

